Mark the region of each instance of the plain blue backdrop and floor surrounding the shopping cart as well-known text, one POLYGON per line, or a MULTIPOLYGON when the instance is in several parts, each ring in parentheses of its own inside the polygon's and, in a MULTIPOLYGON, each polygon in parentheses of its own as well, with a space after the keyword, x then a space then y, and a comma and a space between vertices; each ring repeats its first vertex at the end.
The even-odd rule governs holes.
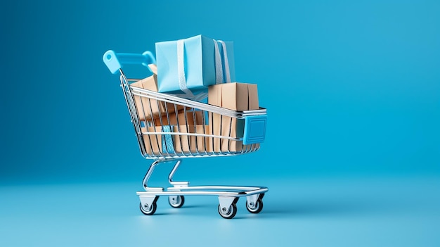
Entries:
MULTIPOLYGON (((367 226, 366 230, 356 227, 361 224, 356 217, 365 216, 363 210, 355 210, 355 218, 343 215, 354 224, 330 224, 331 220, 315 224, 313 219, 319 219, 320 215, 313 212, 321 211, 313 208, 320 208, 321 204, 321 208, 330 208, 330 213, 335 212, 332 208, 337 208, 337 212, 349 211, 345 210, 347 203, 339 203, 342 206, 330 203, 332 199, 323 196, 323 191, 339 183, 346 190, 337 190, 337 195, 345 198, 348 205, 354 201, 365 204, 356 201, 358 197, 370 196, 371 200, 366 201, 380 202, 389 195, 401 195, 392 200, 394 203, 385 202, 384 207, 379 207, 387 208, 380 212, 388 213, 401 203, 412 205, 403 198, 408 196, 408 188, 413 188, 410 195, 425 197, 415 199, 420 204, 408 206, 410 209, 403 213, 408 223, 403 234, 407 238, 413 236, 413 241, 405 239, 402 243, 419 243, 418 240, 425 239, 425 246, 438 245, 438 236, 429 230, 416 229, 420 229, 419 224, 427 229, 439 227, 438 220, 426 220, 439 219, 439 207, 419 207, 440 204, 439 196, 431 194, 440 191, 436 182, 440 174, 439 13, 438 1, 221 1, 214 4, 210 1, 44 0, 4 4, 0 10, 3 43, 0 188, 2 216, 10 226, 7 236, 18 234, 20 225, 29 220, 35 224, 47 218, 56 222, 58 216, 67 215, 58 204, 48 205, 54 196, 60 196, 58 192, 63 194, 55 189, 58 186, 70 188, 73 197, 67 194, 65 197, 79 204, 92 198, 92 192, 98 194, 97 188, 126 188, 119 190, 119 197, 112 196, 120 205, 119 215, 108 211, 116 215, 111 219, 119 219, 115 224, 121 225, 127 216, 121 213, 124 210, 129 210, 141 229, 143 224, 148 225, 143 221, 160 219, 142 217, 136 208, 134 191, 141 189, 136 182, 141 182, 149 160, 140 156, 119 78, 110 74, 102 56, 108 49, 124 53, 154 51, 155 42, 204 34, 234 42, 236 79, 258 84, 260 104, 268 109, 269 115, 266 142, 260 151, 233 158, 185 160, 179 171, 179 177, 196 182, 244 181, 271 186, 269 194, 273 196, 265 197, 268 213, 264 215, 265 210, 261 213, 264 215, 261 219, 266 221, 258 222, 259 217, 255 217, 252 223, 241 221, 231 229, 261 224, 270 232, 276 231, 277 227, 273 226, 279 226, 278 229, 284 230, 279 230, 276 236, 278 241, 284 241, 289 235, 283 231, 297 229, 291 223, 302 217, 310 229, 324 231, 331 225, 342 232, 359 229, 360 235, 354 236, 363 236, 361 233, 378 236, 380 229, 373 226, 382 224, 374 220, 382 219, 380 214, 370 220, 370 228, 368 222, 362 224, 367 226), (327 182, 321 182, 319 187, 314 185, 316 181, 327 182), (389 192, 379 189, 380 186, 359 189, 378 181, 393 189, 389 192), (22 205, 18 195, 21 189, 30 189, 27 187, 30 184, 37 186, 32 189, 43 191, 33 201, 53 211, 42 210, 46 214, 41 217, 11 216, 25 211, 26 208, 16 208, 22 205), (295 184, 297 194, 283 184, 295 184), (307 213, 295 208, 295 205, 301 208, 300 195, 307 195, 307 191, 311 192, 307 197, 313 198, 311 201, 322 199, 320 206, 302 204, 306 212, 310 212, 306 208, 312 208, 311 221, 307 221, 307 213), (357 197, 356 191, 362 196, 357 197), (89 197, 79 196, 84 194, 89 197), (285 194, 295 194, 297 201, 283 208, 280 204, 285 194), (124 196, 129 199, 120 199, 124 196), (271 217, 271 213, 278 216, 271 217)), ((127 68, 129 72, 142 75, 143 70, 127 68)), ((160 184, 166 182, 169 167, 159 168, 158 178, 153 181, 160 184)), ((202 199, 194 200, 193 203, 202 199)), ((78 210, 72 201, 67 210, 70 214, 84 217, 85 212, 91 226, 102 227, 100 216, 93 218, 101 202, 89 201, 90 207, 78 210)), ((167 215, 168 211, 164 211, 161 223, 155 224, 170 227, 174 217, 178 224, 181 221, 188 224, 186 221, 194 217, 195 222, 218 220, 215 210, 210 210, 216 208, 215 201, 212 198, 209 203, 202 201, 206 207, 193 209, 188 201, 187 210, 200 210, 202 217, 195 213, 176 216, 185 212, 167 215)), ((167 208, 165 204, 163 201, 163 208, 167 208)), ((339 222, 337 213, 332 217, 339 222)), ((401 234, 396 229, 402 222, 396 219, 389 221, 389 227, 396 232, 375 239, 377 242, 370 239, 371 243, 387 245, 389 242, 384 239, 401 234)), ((56 225, 53 223, 53 227, 44 231, 56 232, 56 225)), ((80 230, 79 223, 73 225, 72 230, 78 231, 79 236, 89 236, 80 230)), ((127 234, 134 234, 129 229, 127 234)), ((233 236, 228 227, 215 229, 217 234, 223 231, 225 236, 233 236)), ((151 231, 157 233, 159 229, 151 227, 149 231, 151 235, 151 231)), ((122 245, 123 233, 119 231, 119 234, 113 236, 115 239, 119 236, 122 245)), ((298 243, 306 246, 309 235, 304 234, 304 241, 298 243)), ((315 232, 310 236, 323 235, 315 232)), ((185 241, 184 234, 181 239, 185 241)), ((247 243, 242 241, 239 243, 247 243)), ((330 238, 323 243, 341 246, 344 242, 330 238)))

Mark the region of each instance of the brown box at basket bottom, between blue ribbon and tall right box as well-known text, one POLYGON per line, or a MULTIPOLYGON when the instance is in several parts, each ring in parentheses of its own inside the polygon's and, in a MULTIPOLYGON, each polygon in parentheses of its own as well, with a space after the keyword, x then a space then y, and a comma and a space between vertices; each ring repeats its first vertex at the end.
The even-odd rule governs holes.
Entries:
MULTIPOLYGON (((208 125, 176 125, 174 132, 209 134, 208 125)), ((209 137, 195 137, 187 135, 174 136, 174 148, 176 153, 205 153, 209 152, 209 137)))

